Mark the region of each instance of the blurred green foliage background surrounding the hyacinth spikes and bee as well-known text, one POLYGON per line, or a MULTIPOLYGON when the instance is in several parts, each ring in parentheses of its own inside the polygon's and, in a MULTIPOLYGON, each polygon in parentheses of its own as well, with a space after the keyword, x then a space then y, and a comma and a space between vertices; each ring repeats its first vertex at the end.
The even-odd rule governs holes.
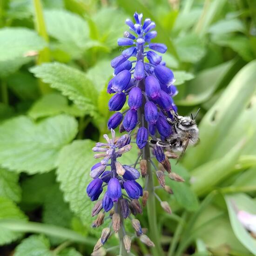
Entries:
MULTIPOLYGON (((172 162, 185 182, 168 181, 174 195, 157 191, 174 212, 157 205, 163 248, 256 255, 255 236, 236 217, 237 209, 256 214, 254 0, 0 1, 1 255, 90 254, 101 233, 90 228, 85 192, 91 148, 108 132, 110 61, 135 11, 168 46, 179 113, 201 108, 200 143, 172 162)), ((132 253, 149 251, 136 243, 132 253)))

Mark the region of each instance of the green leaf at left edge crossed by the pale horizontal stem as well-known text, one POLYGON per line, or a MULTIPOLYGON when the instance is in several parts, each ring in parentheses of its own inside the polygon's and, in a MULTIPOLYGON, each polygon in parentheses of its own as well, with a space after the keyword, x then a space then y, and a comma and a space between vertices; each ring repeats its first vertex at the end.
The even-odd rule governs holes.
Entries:
POLYGON ((15 232, 1 226, 1 220, 15 219, 27 220, 27 217, 20 209, 10 200, 5 197, 0 197, 0 245, 12 243, 22 236, 20 232, 15 232))

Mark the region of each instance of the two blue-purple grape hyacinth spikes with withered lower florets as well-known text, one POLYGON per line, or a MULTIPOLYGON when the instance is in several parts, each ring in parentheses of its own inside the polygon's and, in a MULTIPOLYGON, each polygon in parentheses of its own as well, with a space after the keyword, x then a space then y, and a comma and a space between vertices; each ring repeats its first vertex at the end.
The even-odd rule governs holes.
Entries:
MULTIPOLYGON (((172 128, 166 121, 166 113, 170 110, 177 111, 173 98, 177 93, 174 85, 173 72, 165 67, 162 55, 167 47, 161 43, 151 43, 157 33, 153 29, 155 23, 150 19, 142 22, 142 14, 134 14, 135 23, 127 19, 129 31, 124 32, 124 38, 118 39, 118 45, 127 47, 111 61, 114 68, 114 77, 108 82, 107 92, 113 94, 108 102, 110 111, 115 111, 108 120, 108 129, 112 138, 104 135, 107 143, 96 143, 93 148, 96 159, 101 161, 91 168, 93 181, 88 184, 87 194, 91 201, 96 201, 92 216, 97 216, 93 227, 100 226, 105 219, 112 220, 112 229, 118 232, 121 246, 121 255, 131 250, 131 241, 134 236, 129 236, 124 229, 124 220, 131 220, 135 234, 142 243, 155 246, 158 255, 163 255, 158 237, 157 220, 155 211, 155 198, 160 202, 162 209, 171 213, 168 202, 162 201, 155 190, 165 189, 172 194, 172 189, 165 185, 164 177, 177 182, 184 181, 182 177, 171 172, 169 158, 176 155, 164 152, 158 145, 150 145, 149 137, 165 139, 171 135, 172 128), (132 60, 133 59, 133 60, 132 60), (134 60, 136 59, 136 60, 134 60), (128 100, 128 109, 123 109, 128 100), (119 126, 119 132, 128 134, 115 137, 114 129, 119 126), (136 135, 135 141, 131 141, 136 135), (118 159, 137 144, 140 152, 132 165, 121 164, 118 159), (153 157, 152 157, 153 156, 153 157), (159 162, 159 168, 154 159, 159 162), (140 172, 136 169, 140 166, 140 172), (155 170, 151 170, 151 167, 155 170), (160 169, 160 170, 159 170, 160 169), (168 172, 168 174, 165 173, 168 172), (154 185, 153 174, 161 186, 154 185), (145 178, 144 189, 138 179, 145 178), (143 234, 140 222, 131 215, 141 214, 142 206, 148 208, 148 224, 150 238, 143 234), (106 217, 109 213, 109 216, 106 217), (125 250, 123 250, 125 249, 125 250)), ((102 230, 101 238, 94 247, 92 255, 100 253, 101 246, 111 236, 110 226, 102 230), (103 232, 104 231, 104 232, 103 232)))

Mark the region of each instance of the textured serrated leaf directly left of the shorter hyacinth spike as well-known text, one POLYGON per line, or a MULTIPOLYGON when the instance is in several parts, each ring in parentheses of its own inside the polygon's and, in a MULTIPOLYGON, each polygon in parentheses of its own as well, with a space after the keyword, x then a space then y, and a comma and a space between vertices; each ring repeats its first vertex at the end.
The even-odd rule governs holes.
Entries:
POLYGON ((57 169, 57 179, 61 183, 65 200, 87 226, 90 225, 93 203, 86 194, 86 187, 91 181, 90 169, 99 161, 94 159, 93 147, 94 142, 90 140, 74 141, 64 147, 57 169))

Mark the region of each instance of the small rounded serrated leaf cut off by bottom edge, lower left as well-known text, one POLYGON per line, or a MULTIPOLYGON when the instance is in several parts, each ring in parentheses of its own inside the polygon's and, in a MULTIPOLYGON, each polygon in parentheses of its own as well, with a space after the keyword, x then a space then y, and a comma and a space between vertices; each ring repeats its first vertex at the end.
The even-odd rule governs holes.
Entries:
POLYGON ((43 235, 33 235, 24 239, 16 248, 14 256, 53 256, 50 242, 43 235))

